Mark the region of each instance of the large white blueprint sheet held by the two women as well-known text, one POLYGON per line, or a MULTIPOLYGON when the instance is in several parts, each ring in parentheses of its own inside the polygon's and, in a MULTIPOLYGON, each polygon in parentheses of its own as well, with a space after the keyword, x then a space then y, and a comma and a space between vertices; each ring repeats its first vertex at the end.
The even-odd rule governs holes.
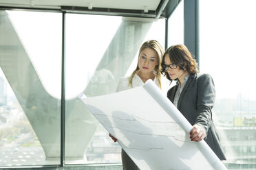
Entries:
POLYGON ((226 169, 205 141, 191 141, 191 124, 151 80, 81 100, 141 170, 226 169))

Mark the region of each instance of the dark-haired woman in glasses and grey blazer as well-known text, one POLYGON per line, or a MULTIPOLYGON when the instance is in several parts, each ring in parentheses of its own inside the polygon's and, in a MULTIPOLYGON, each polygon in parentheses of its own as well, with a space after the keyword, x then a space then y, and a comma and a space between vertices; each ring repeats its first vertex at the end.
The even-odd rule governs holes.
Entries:
POLYGON ((204 139, 220 160, 226 160, 212 119, 215 86, 209 74, 199 74, 198 64, 185 45, 173 45, 164 52, 162 74, 177 84, 167 97, 191 123, 191 141, 204 139))

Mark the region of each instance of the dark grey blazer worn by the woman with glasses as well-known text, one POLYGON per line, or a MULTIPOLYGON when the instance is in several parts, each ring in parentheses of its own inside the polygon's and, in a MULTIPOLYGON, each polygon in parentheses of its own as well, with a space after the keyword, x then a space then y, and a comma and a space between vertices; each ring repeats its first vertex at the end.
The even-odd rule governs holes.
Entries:
MULTIPOLYGON (((173 86, 167 93, 171 102, 174 100, 177 88, 177 85, 173 86)), ((226 160, 212 120, 211 109, 214 101, 215 86, 211 75, 191 74, 180 94, 177 108, 191 125, 197 123, 204 127, 206 132, 204 141, 213 149, 220 160, 226 160)))

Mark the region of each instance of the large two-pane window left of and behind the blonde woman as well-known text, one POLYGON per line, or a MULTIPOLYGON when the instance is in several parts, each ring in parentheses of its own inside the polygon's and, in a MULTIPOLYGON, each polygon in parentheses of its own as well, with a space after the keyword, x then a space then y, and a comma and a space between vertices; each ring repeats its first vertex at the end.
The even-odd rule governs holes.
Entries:
MULTIPOLYGON (((0 12, 0 168, 59 165, 63 15, 0 12)), ((65 164, 120 163, 120 146, 78 95, 114 93, 143 42, 164 47, 165 20, 65 16, 65 164)))

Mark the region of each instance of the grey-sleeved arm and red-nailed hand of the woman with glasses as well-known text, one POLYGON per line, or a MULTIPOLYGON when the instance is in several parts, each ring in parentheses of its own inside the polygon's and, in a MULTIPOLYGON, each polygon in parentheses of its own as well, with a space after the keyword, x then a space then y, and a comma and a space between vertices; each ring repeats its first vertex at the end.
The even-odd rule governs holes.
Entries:
POLYGON ((198 101, 195 125, 191 130, 191 141, 202 141, 211 126, 211 109, 215 101, 215 86, 211 75, 198 78, 198 101))

